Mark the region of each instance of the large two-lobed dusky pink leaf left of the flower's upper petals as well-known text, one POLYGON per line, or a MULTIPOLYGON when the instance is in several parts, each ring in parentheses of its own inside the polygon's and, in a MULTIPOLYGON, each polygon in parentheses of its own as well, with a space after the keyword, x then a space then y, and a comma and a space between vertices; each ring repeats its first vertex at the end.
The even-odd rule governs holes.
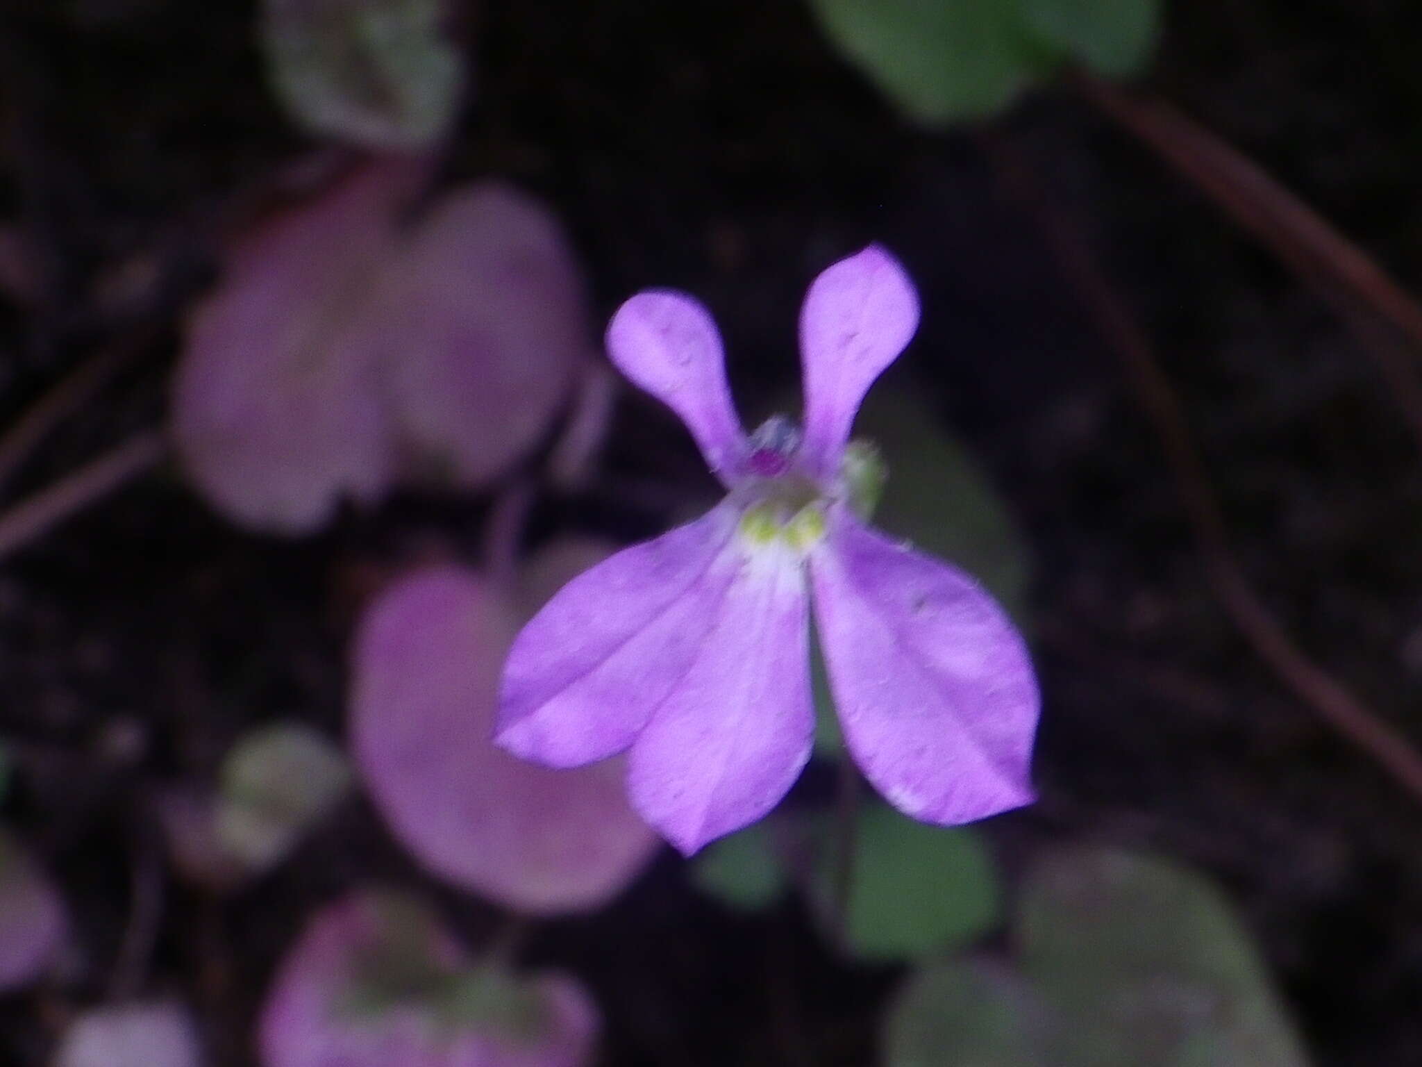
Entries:
POLYGON ((232 519, 301 534, 400 478, 479 488, 567 398, 589 324, 557 222, 485 182, 404 225, 414 179, 367 165, 266 222, 193 314, 173 432, 232 519))

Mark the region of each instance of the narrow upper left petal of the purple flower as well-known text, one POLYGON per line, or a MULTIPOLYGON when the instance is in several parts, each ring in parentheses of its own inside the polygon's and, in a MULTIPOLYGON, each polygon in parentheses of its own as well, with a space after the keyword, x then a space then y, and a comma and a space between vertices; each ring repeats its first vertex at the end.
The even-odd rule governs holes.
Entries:
POLYGON ((607 353, 633 384, 681 417, 707 464, 727 481, 739 464, 745 432, 711 313, 684 293, 637 293, 613 316, 607 353))

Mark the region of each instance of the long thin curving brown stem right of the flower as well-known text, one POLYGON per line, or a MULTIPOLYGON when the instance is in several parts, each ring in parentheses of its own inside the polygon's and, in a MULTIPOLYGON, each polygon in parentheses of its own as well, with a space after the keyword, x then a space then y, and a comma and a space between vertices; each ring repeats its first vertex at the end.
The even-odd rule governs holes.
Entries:
POLYGON ((1375 760, 1392 780, 1422 801, 1422 754, 1327 670, 1308 659, 1250 585, 1229 548, 1224 516, 1189 423, 1150 340, 1096 263, 1074 219, 1052 205, 1031 171, 1005 141, 984 138, 1004 184, 1037 216, 1064 277, 1094 313, 1098 329, 1121 357, 1126 376, 1155 425, 1194 531, 1206 576, 1240 635, 1280 681, 1338 736, 1375 760))

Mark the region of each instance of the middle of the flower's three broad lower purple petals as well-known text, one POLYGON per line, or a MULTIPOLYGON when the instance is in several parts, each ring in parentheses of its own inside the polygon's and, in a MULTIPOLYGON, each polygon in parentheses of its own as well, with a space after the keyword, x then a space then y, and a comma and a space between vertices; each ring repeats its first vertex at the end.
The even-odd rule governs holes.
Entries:
POLYGON ((805 767, 813 733, 803 568, 788 549, 758 551, 633 745, 633 807, 690 855, 774 808, 805 767))

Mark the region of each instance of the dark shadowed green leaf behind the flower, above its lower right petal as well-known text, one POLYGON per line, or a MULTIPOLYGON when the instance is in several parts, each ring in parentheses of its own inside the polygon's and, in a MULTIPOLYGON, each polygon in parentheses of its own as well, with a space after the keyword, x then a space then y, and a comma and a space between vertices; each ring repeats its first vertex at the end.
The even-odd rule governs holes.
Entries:
POLYGON ((973 460, 902 390, 869 394, 855 435, 889 467, 875 525, 967 570, 1022 625, 1031 570, 1027 541, 973 460))

